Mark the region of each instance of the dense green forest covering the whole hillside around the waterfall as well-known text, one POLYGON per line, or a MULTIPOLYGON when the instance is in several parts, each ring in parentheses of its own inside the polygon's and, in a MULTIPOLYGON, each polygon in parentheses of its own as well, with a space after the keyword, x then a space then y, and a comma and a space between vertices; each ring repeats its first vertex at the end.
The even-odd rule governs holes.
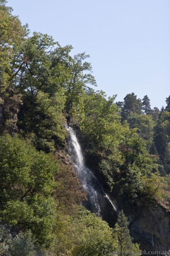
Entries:
POLYGON ((151 109, 147 95, 114 103, 95 91, 85 53, 22 26, 0 0, 0 255, 139 252, 121 211, 114 229, 84 209, 72 167, 56 160, 64 125, 79 129, 98 158, 106 188, 125 202, 170 202, 170 96, 151 109))

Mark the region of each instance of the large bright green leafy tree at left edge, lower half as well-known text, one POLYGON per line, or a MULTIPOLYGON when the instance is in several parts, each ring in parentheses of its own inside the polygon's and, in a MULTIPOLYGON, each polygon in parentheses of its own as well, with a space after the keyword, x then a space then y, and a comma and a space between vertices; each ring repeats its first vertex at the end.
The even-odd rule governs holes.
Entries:
POLYGON ((14 230, 29 228, 38 243, 50 243, 55 218, 51 197, 58 165, 18 137, 0 139, 0 219, 14 230))

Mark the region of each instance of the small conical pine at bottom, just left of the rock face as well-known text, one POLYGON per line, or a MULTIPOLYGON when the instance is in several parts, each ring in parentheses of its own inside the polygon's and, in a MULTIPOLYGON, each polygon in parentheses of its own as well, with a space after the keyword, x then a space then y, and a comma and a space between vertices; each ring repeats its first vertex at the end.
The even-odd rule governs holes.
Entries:
POLYGON ((134 247, 128 226, 128 218, 124 215, 123 210, 121 210, 115 225, 115 234, 119 241, 119 255, 129 255, 133 252, 134 247))

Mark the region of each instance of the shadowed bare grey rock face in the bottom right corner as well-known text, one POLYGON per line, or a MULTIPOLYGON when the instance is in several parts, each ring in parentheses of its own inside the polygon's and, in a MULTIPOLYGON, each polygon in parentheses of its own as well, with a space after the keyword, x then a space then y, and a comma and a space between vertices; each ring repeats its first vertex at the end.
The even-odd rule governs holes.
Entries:
POLYGON ((145 205, 141 201, 125 211, 130 221, 134 241, 144 251, 170 250, 170 212, 158 203, 145 205))

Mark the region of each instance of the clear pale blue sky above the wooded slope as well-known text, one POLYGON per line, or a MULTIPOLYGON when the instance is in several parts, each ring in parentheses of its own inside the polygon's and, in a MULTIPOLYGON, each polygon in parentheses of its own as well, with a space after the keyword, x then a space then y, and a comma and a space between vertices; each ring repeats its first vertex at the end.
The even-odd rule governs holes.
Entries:
POLYGON ((161 108, 170 94, 170 0, 9 0, 33 31, 72 54, 86 52, 108 96, 148 95, 161 108))

